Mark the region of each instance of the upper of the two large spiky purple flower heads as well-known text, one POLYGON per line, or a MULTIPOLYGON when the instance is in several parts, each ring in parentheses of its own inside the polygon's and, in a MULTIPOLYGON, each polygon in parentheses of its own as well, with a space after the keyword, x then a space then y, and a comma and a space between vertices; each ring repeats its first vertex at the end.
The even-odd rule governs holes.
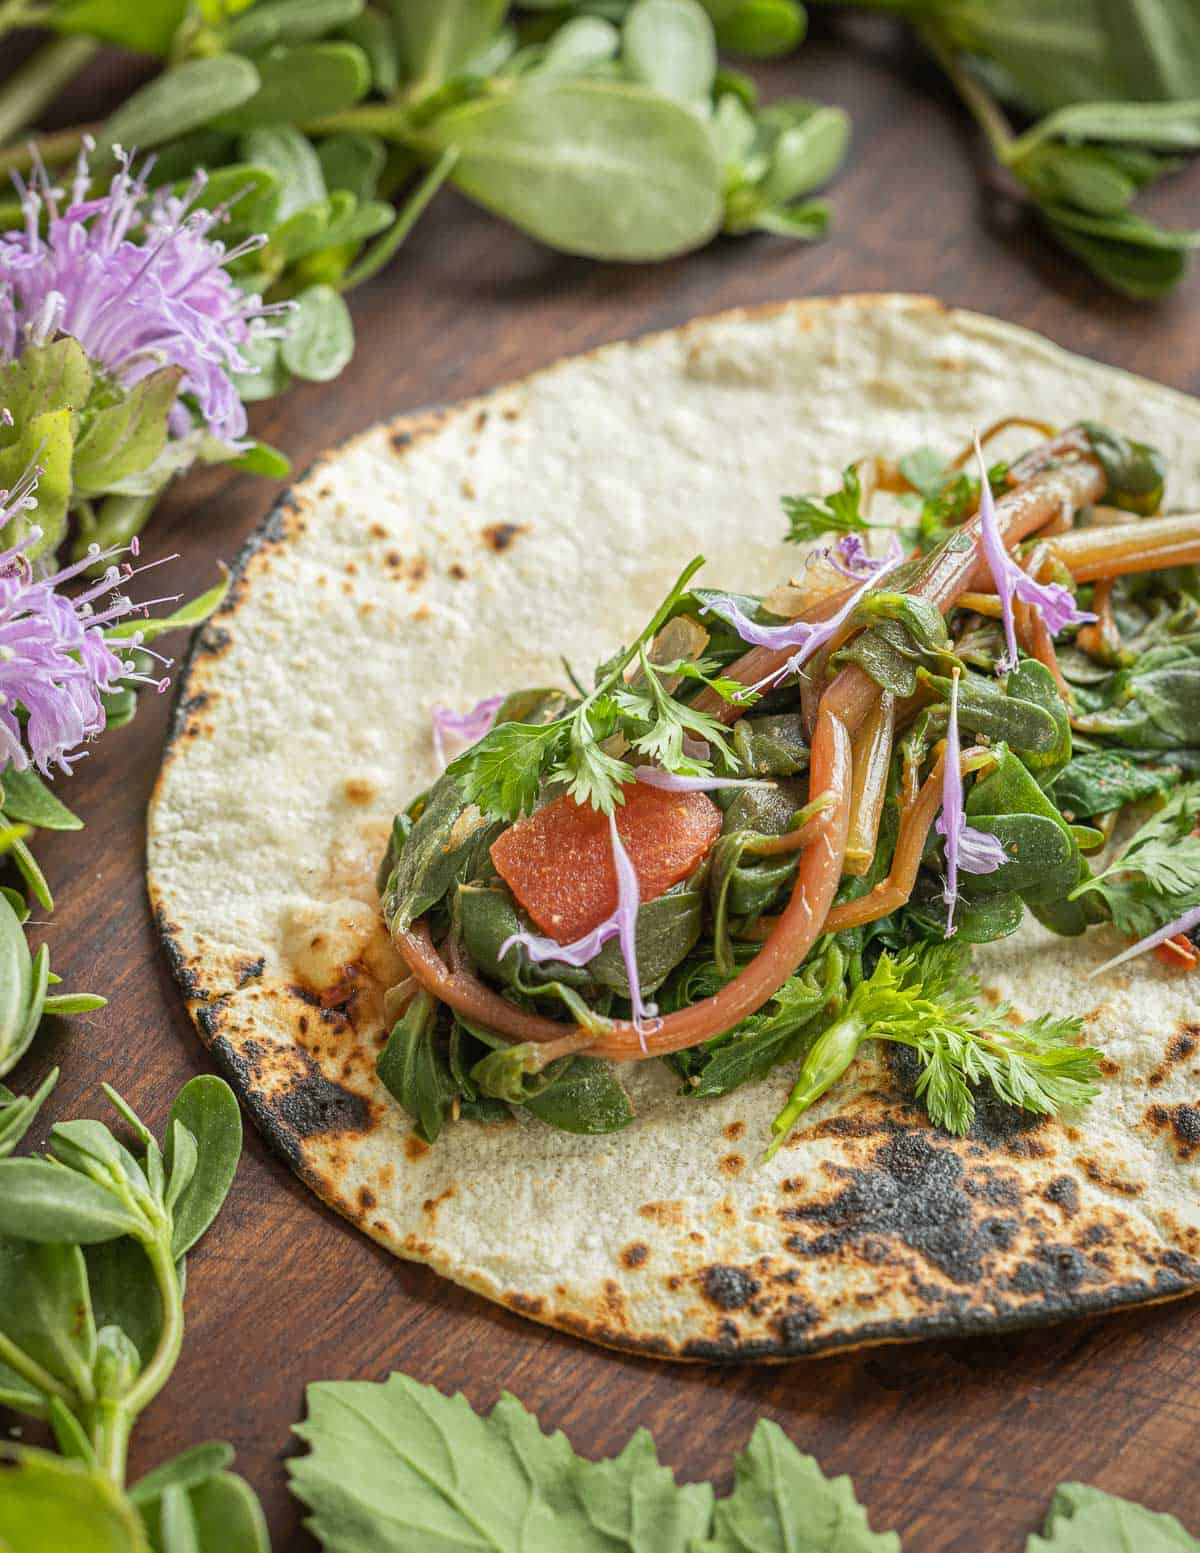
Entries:
POLYGON ((87 141, 65 205, 43 166, 28 188, 17 180, 25 230, 0 239, 0 356, 64 332, 126 388, 160 367, 182 367, 171 432, 192 429, 186 396, 213 436, 236 444, 245 407, 231 374, 255 370, 241 346, 278 309, 239 290, 224 266, 265 238, 227 252, 210 238, 227 210, 192 210, 205 172, 182 199, 151 194, 152 163, 135 175, 124 154, 109 193, 87 199, 90 149, 87 141))

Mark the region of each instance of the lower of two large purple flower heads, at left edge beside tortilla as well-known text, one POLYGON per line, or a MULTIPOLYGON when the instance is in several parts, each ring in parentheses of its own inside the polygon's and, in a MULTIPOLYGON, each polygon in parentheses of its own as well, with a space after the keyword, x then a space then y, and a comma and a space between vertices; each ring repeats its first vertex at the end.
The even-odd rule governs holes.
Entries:
MULTIPOLYGON (((37 506, 37 474, 31 464, 11 491, 0 491, 0 528, 37 506)), ((57 592, 62 582, 123 551, 93 545, 75 565, 37 576, 25 551, 40 537, 40 530, 31 528, 19 545, 0 551, 0 772, 8 766, 25 770, 33 761, 48 776, 51 766, 68 772, 85 753, 79 745, 104 728, 101 696, 120 680, 157 683, 160 691, 168 682, 137 674, 104 640, 104 627, 135 609, 115 592, 134 576, 130 565, 109 567, 78 598, 57 592), (107 603, 96 609, 93 601, 104 593, 107 603)), ((130 551, 137 554, 137 542, 130 551)), ((141 641, 135 635, 124 646, 141 648, 141 641)))

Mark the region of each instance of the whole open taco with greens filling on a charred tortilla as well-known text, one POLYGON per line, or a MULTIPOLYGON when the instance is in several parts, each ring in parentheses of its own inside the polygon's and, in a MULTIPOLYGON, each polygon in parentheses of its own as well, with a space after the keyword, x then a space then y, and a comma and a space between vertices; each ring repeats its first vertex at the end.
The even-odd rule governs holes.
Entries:
POLYGON ((366 1233, 621 1348, 1200 1287, 1197 497, 1195 402, 907 297, 365 433, 180 685, 202 1039, 366 1233))

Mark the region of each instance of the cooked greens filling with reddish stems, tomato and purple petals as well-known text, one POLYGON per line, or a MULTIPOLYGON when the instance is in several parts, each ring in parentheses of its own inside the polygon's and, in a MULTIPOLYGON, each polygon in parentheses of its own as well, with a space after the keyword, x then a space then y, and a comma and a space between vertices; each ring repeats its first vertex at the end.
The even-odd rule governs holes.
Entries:
POLYGON ((786 500, 826 545, 799 579, 703 590, 697 559, 590 688, 435 713, 439 755, 473 742, 379 871, 411 971, 379 1073, 418 1132, 610 1132, 615 1061, 660 1059, 697 1103, 789 1070, 773 1152, 869 1041, 952 1132, 981 1092, 1093 1098, 1080 1020, 1017 1022, 969 957, 1031 912, 1195 963, 1200 516, 1161 497, 1091 424, 1012 464, 863 460, 786 500))

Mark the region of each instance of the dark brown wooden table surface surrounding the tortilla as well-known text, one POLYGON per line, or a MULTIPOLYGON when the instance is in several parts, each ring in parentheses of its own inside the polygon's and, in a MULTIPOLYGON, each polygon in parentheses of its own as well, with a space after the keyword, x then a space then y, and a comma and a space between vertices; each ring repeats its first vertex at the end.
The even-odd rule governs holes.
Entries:
MULTIPOLYGON (((444 194, 399 261, 354 297, 359 351, 332 387, 251 413, 297 469, 369 421, 501 384, 557 356, 703 312, 843 290, 935 292, 1074 349, 1200 391, 1200 286, 1160 306, 1105 294, 978 177, 973 137, 927 62, 890 23, 821 19, 768 93, 840 102, 854 149, 834 189, 837 228, 817 245, 728 239, 647 269, 567 259, 444 194)), ((56 121, 101 107, 99 61, 56 121)), ((1160 191, 1164 219, 1200 205, 1200 168, 1160 191)), ((869 441, 869 438, 868 438, 869 441)), ((154 520, 147 554, 179 551, 157 581, 216 579, 278 489, 205 472, 154 520)), ((340 694, 331 686, 331 694, 340 694)), ((157 1127, 208 1062, 158 943, 143 885, 146 800, 169 697, 151 696, 106 736, 64 797, 85 817, 39 851, 59 898, 47 938, 70 986, 109 1008, 48 1027, 17 1070, 64 1076, 47 1112, 99 1115, 107 1079, 157 1127)), ((269 801, 269 800, 267 800, 269 801)), ((40 1143, 39 1126, 34 1141, 40 1143)), ((995 1340, 924 1343, 781 1367, 708 1368, 626 1359, 545 1331, 391 1259, 321 1207, 250 1134, 224 1216, 192 1258, 188 1332, 174 1381, 143 1416, 132 1469, 228 1438, 261 1492, 276 1550, 310 1550, 283 1461, 304 1382, 405 1370, 477 1407, 514 1391, 588 1455, 654 1430, 685 1478, 730 1482, 759 1416, 827 1472, 851 1472, 877 1528, 913 1553, 1015 1553, 1062 1478, 1172 1510, 1200 1530, 1200 1308, 1132 1311, 995 1340)))

